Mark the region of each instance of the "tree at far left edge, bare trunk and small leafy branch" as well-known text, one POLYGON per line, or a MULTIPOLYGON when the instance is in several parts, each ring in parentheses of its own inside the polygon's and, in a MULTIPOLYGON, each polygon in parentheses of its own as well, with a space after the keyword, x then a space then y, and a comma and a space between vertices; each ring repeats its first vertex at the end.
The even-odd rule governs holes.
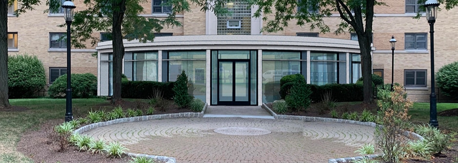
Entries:
MULTIPOLYGON (((20 6, 15 11, 19 16, 27 10, 33 10, 34 5, 40 4, 40 0, 18 0, 20 6)), ((13 5, 14 0, 0 0, 0 108, 10 106, 8 101, 8 6, 13 5)))

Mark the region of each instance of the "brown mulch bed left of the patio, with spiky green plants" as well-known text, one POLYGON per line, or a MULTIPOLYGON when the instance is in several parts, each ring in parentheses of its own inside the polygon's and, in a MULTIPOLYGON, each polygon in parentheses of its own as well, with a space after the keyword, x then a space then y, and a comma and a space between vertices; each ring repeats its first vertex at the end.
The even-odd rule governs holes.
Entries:
MULTIPOLYGON (((156 107, 154 114, 169 114, 179 112, 191 112, 190 109, 181 109, 176 106, 173 101, 161 101, 162 107, 156 107)), ((117 105, 102 104, 94 108, 105 109, 115 107, 117 105)), ((148 109, 149 104, 135 101, 122 100, 120 106, 125 109, 142 109, 144 112, 148 109)), ((13 107, 13 110, 8 111, 22 111, 27 110, 23 107, 13 107)), ((109 111, 109 110, 106 110, 109 111)), ((76 110, 77 112, 77 110, 76 110)), ((82 113, 75 113, 77 116, 85 117, 82 113)), ((48 121, 40 126, 40 129, 36 131, 29 131, 22 135, 17 150, 23 153, 25 156, 31 158, 36 163, 128 163, 131 159, 127 155, 123 155, 121 158, 108 158, 101 154, 92 154, 89 152, 79 152, 75 146, 70 146, 65 151, 60 151, 59 143, 53 139, 53 128, 63 123, 63 120, 52 120, 48 121)), ((156 163, 162 163, 156 161, 156 163)))

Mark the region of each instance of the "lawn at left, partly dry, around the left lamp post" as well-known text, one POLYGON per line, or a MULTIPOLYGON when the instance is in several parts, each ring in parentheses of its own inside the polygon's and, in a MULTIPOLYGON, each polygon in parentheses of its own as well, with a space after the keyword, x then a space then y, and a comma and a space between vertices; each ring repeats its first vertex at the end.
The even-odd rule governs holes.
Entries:
MULTIPOLYGON (((109 101, 104 99, 73 99, 74 115, 107 103, 109 101)), ((48 120, 61 119, 63 122, 65 99, 11 99, 10 104, 29 110, 0 111, 0 163, 32 163, 16 150, 20 136, 48 120)))

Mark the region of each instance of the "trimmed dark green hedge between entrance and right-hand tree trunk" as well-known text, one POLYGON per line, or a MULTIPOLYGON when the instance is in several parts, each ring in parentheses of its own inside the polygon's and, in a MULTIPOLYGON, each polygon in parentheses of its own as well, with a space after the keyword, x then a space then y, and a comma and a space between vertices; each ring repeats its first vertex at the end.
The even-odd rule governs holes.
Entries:
POLYGON ((335 102, 363 101, 363 85, 359 84, 326 84, 323 86, 309 85, 310 99, 321 102, 324 93, 331 92, 335 102))

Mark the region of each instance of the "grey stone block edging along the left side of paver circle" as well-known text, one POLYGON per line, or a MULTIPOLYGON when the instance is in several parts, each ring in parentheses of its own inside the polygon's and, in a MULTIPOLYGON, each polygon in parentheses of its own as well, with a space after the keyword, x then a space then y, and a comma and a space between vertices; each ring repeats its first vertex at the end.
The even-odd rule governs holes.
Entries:
MULTIPOLYGON (((207 110, 207 107, 208 107, 208 104, 205 103, 204 108, 202 109, 201 112, 181 112, 181 113, 172 113, 172 114, 156 114, 156 115, 129 117, 129 118, 119 118, 119 119, 114 119, 111 121, 99 122, 99 123, 89 124, 83 127, 79 127, 78 129, 73 131, 73 133, 82 134, 86 131, 89 131, 97 127, 104 127, 104 126, 115 125, 115 124, 126 123, 126 122, 148 121, 148 120, 153 120, 153 119, 171 119, 171 118, 195 118, 195 117, 202 118, 204 116, 205 111, 207 110)), ((143 157, 163 161, 166 163, 176 163, 175 158, 167 157, 167 156, 155 156, 155 155, 136 154, 136 153, 127 153, 127 155, 131 157, 142 157, 143 156, 143 157)))

